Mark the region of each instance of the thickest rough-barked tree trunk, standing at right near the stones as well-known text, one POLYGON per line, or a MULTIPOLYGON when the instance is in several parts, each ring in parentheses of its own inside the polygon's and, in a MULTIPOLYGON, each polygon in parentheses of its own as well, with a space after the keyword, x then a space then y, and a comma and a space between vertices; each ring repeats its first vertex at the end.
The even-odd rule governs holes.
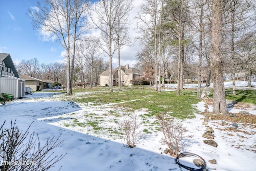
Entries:
POLYGON ((213 109, 212 113, 228 115, 226 106, 222 53, 221 35, 222 34, 222 0, 212 1, 212 41, 210 47, 210 63, 213 76, 213 109))

